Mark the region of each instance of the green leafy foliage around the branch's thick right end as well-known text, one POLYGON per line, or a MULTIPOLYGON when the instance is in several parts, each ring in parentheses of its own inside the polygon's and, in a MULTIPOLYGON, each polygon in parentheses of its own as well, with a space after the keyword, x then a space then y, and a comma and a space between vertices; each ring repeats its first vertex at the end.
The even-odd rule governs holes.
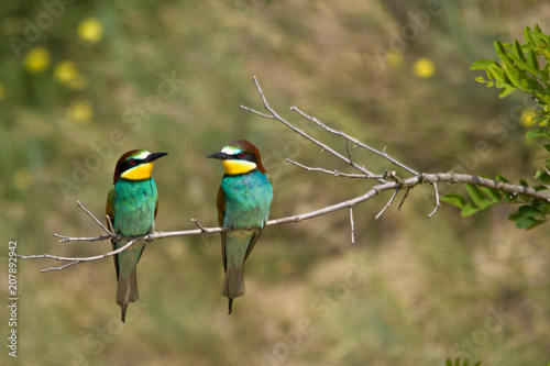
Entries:
MULTIPOLYGON (((526 44, 520 44, 519 41, 505 44, 495 41, 495 52, 501 58, 501 63, 482 59, 473 63, 470 68, 485 70, 488 80, 481 76, 476 77, 475 80, 486 84, 487 87, 501 88, 501 98, 508 96, 516 89, 531 96, 539 109, 524 111, 521 122, 527 126, 536 123, 541 127, 529 130, 526 137, 550 140, 548 129, 550 121, 550 36, 544 34, 537 24, 534 30, 528 26, 524 30, 524 38, 526 44), (541 59, 542 64, 539 63, 539 59, 541 59)), ((539 168, 534 176, 535 179, 539 180, 535 187, 538 191, 548 190, 550 184, 548 170, 550 168, 550 144, 544 144, 542 147, 547 157, 543 167, 539 168)), ((502 176, 497 176, 496 181, 508 182, 502 176)), ((519 185, 528 187, 525 180, 521 180, 519 185)), ((447 203, 459 207, 463 217, 474 214, 499 202, 526 203, 517 212, 508 217, 509 220, 516 222, 518 229, 536 228, 544 223, 550 214, 550 204, 521 195, 510 197, 494 189, 472 185, 466 185, 466 191, 471 199, 469 202, 462 196, 454 193, 446 195, 441 199, 447 203)))

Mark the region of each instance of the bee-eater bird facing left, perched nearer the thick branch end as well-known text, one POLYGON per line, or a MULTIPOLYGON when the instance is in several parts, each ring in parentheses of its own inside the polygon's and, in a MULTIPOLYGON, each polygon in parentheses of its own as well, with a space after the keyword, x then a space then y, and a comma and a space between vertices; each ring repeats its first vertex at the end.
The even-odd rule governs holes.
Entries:
POLYGON ((229 299, 231 313, 233 299, 244 295, 244 260, 267 222, 273 186, 260 152, 245 140, 233 141, 207 157, 220 159, 224 171, 217 203, 220 226, 232 229, 221 233, 226 270, 221 295, 229 299))

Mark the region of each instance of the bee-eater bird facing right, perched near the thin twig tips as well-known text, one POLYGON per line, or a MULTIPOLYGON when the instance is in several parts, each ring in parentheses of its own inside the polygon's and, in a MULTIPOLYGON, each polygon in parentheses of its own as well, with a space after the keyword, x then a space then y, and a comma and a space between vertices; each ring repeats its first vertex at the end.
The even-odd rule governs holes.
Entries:
MULTIPOLYGON (((107 196, 107 214, 111 219, 114 233, 122 236, 142 236, 154 233, 158 209, 156 185, 151 177, 153 162, 167 153, 151 154, 144 149, 125 153, 117 162, 111 189, 107 196)), ((118 249, 128 243, 111 240, 118 249)), ((117 270, 117 303, 124 322, 128 303, 138 300, 138 278, 135 268, 145 247, 145 242, 135 243, 114 255, 117 270)))

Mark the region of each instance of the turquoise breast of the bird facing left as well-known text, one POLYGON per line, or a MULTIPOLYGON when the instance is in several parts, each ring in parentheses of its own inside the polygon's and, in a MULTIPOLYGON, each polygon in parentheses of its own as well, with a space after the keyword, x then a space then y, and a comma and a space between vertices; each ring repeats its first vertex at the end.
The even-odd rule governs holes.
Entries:
POLYGON ((234 229, 263 228, 270 215, 273 187, 260 170, 240 176, 224 176, 226 193, 223 226, 234 229))

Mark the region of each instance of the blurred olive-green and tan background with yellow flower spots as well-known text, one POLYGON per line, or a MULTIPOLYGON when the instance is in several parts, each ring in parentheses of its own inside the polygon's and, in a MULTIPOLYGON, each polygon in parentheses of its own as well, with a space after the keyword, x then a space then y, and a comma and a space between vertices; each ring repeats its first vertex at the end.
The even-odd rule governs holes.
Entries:
MULTIPOLYGON (((262 109, 345 154, 342 140, 297 106, 418 171, 530 177, 544 157, 525 141, 519 92, 473 81, 493 41, 521 37, 547 1, 2 1, 0 4, 0 278, 8 242, 20 254, 90 256, 112 170, 132 148, 156 164, 158 231, 216 225, 218 162, 248 138, 272 174, 271 218, 364 193, 372 182, 307 173, 351 171, 262 109), (488 149, 486 148, 488 146, 488 149)), ((354 149, 374 173, 387 162, 354 149)), ((407 175, 400 171, 403 177, 407 175)), ((440 192, 462 187, 441 185, 440 192)), ((550 361, 548 226, 518 231, 513 207, 470 218, 433 210, 417 187, 400 211, 380 195, 354 210, 265 230, 246 263, 246 295, 227 315, 219 235, 155 241, 140 263, 140 301, 119 321, 112 259, 40 274, 19 262, 19 365, 482 365, 550 361)), ((7 289, 7 285, 2 286, 7 289)), ((8 298, 7 292, 4 297, 8 298)), ((4 302, 8 302, 6 300, 4 302)), ((0 307, 8 335, 7 307, 0 307)), ((4 337, 4 342, 6 337, 4 337)))

